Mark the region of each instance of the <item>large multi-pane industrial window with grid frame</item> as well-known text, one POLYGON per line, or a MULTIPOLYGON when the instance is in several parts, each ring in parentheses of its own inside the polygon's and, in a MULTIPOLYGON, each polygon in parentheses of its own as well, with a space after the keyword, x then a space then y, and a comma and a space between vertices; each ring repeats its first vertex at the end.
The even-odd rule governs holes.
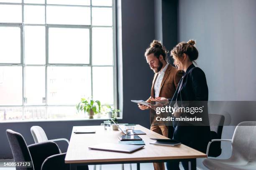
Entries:
POLYGON ((0 0, 0 121, 116 106, 115 0, 0 0))

